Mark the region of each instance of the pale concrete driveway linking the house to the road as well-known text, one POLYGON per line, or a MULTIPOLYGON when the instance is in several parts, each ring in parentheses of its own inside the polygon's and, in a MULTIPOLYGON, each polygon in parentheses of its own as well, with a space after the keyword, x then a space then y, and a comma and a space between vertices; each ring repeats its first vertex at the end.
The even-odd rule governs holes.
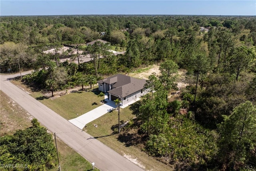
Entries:
POLYGON ((107 95, 105 95, 104 98, 105 98, 105 101, 108 101, 104 105, 101 105, 101 106, 99 106, 99 107, 97 107, 97 108, 95 108, 95 109, 93 109, 93 110, 91 110, 87 113, 84 113, 83 115, 78 116, 74 119, 70 119, 69 121, 71 123, 73 123, 76 127, 78 127, 79 129, 83 129, 84 126, 87 123, 89 123, 89 122, 101 117, 102 115, 112 111, 116 107, 115 102, 108 100, 107 95))

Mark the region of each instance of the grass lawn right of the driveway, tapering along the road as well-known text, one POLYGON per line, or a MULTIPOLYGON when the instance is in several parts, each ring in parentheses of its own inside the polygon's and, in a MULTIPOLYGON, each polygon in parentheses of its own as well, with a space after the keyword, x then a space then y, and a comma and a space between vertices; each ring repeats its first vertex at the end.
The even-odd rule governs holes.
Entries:
MULTIPOLYGON (((132 114, 135 105, 130 105, 124 109, 120 108, 120 123, 124 123, 136 117, 132 114)), ((84 130, 114 151, 120 153, 120 155, 126 155, 129 156, 130 159, 136 160, 136 162, 146 170, 174 170, 172 167, 148 156, 148 154, 142 150, 142 144, 131 143, 131 141, 136 142, 136 138, 134 139, 134 137, 140 136, 138 135, 137 129, 132 129, 128 132, 121 129, 120 135, 114 134, 114 128, 118 128, 117 125, 118 110, 114 110, 88 123, 84 130), (95 127, 94 124, 98 125, 98 127, 95 127)))

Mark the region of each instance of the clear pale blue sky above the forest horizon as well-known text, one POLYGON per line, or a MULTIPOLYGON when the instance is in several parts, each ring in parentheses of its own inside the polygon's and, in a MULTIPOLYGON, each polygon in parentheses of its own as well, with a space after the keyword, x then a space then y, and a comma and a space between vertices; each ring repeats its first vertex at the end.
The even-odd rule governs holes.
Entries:
POLYGON ((1 16, 256 16, 256 0, 0 0, 1 16))

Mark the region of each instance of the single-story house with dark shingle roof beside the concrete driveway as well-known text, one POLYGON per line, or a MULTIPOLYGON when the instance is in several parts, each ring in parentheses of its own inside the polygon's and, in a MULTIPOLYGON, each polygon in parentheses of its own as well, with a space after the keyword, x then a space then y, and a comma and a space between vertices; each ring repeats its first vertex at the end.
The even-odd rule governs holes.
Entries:
POLYGON ((120 100, 121 105, 126 105, 149 92, 145 88, 146 80, 116 74, 112 77, 98 81, 99 91, 108 93, 108 99, 120 100))

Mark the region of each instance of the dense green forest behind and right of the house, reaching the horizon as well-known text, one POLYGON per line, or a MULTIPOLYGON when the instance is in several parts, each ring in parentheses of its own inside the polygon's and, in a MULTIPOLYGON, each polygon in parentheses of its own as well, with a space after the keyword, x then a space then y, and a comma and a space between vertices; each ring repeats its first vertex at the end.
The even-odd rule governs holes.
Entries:
POLYGON ((144 150, 184 170, 256 169, 256 17, 1 17, 1 73, 34 70, 22 81, 53 91, 160 65, 136 112, 144 150), (109 53, 102 39, 125 51, 109 53), (74 46, 67 55, 63 44, 74 46), (44 51, 54 48, 55 53, 44 51), (83 50, 83 54, 78 51, 83 50), (92 60, 82 62, 80 56, 92 60), (74 62, 60 62, 63 56, 74 62), (103 58, 100 58, 102 56, 103 58), (76 61, 78 64, 76 64, 76 61), (170 101, 178 69, 193 80, 170 101), (153 93, 153 90, 156 90, 153 93), (180 109, 186 114, 180 114, 180 109))

